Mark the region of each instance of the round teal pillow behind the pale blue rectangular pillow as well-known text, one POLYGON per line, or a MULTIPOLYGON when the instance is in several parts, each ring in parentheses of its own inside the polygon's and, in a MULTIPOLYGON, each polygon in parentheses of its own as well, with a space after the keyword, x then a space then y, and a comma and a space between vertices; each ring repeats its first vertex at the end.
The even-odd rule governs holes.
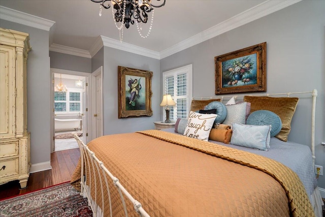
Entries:
POLYGON ((257 126, 271 125, 271 137, 276 136, 282 128, 280 117, 276 113, 268 110, 257 110, 252 112, 248 116, 246 124, 257 126))

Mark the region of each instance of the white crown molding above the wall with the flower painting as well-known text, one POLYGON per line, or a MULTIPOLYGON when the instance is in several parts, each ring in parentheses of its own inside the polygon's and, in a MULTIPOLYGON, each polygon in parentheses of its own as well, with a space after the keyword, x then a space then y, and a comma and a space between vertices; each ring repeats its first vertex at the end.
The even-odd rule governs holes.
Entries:
POLYGON ((218 35, 226 33, 234 28, 247 24, 251 21, 269 15, 273 12, 286 8, 302 0, 292 1, 267 1, 259 4, 247 11, 244 11, 224 22, 221 22, 197 35, 194 35, 166 50, 160 52, 160 59, 175 54, 179 51, 185 50, 191 46, 197 45, 201 42, 207 41, 218 35))

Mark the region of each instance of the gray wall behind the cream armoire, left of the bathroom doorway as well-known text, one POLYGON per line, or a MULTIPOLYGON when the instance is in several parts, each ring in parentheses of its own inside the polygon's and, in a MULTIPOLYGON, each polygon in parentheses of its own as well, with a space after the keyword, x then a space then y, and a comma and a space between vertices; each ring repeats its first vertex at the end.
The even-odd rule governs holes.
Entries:
POLYGON ((1 27, 28 33, 32 50, 27 60, 27 130, 31 164, 50 162, 49 32, 0 20, 1 27))

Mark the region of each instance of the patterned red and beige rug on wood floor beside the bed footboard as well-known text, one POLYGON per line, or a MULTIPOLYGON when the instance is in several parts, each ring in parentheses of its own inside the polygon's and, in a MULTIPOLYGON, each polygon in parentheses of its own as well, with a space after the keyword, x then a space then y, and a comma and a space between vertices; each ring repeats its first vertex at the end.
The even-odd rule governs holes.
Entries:
POLYGON ((0 201, 0 216, 92 216, 87 198, 70 183, 0 201))

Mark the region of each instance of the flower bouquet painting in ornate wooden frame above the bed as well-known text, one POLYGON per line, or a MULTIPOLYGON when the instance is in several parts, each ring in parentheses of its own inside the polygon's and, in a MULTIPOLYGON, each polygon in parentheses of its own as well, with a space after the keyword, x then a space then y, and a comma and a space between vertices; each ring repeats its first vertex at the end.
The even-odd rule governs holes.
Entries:
POLYGON ((215 56, 215 94, 266 91, 266 42, 215 56))

